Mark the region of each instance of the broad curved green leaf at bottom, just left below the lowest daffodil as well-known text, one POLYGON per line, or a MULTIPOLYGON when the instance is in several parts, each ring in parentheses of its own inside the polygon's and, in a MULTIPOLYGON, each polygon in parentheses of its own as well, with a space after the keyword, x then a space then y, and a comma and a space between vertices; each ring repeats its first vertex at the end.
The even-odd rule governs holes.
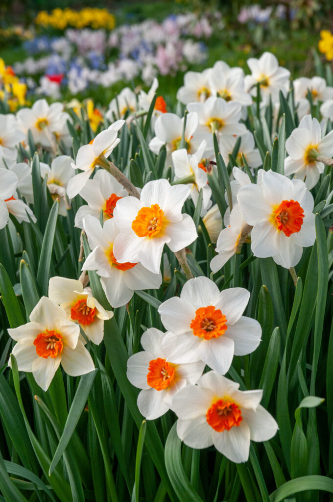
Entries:
POLYGON ((173 487, 175 488, 179 502, 203 502, 202 498, 193 488, 187 477, 181 456, 182 441, 177 435, 177 423, 171 428, 165 442, 165 467, 173 487))

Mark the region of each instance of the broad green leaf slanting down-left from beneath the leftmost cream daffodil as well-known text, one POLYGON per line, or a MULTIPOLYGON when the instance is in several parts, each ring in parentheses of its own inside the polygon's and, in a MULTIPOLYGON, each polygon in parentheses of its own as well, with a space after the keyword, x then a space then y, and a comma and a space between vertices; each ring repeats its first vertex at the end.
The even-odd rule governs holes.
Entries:
POLYGON ((53 459, 52 459, 52 462, 50 465, 49 476, 54 471, 57 463, 59 462, 59 460, 61 458, 61 455, 65 451, 65 448, 68 445, 68 443, 74 433, 75 427, 79 421, 81 413, 84 410, 84 407, 86 406, 88 395, 89 395, 90 389, 92 387, 92 384, 94 382, 96 372, 97 372, 97 369, 95 369, 94 371, 90 371, 90 373, 87 373, 87 374, 81 376, 76 394, 73 399, 72 406, 71 406, 69 413, 68 413, 68 417, 66 420, 64 431, 61 435, 57 450, 53 456, 53 459))

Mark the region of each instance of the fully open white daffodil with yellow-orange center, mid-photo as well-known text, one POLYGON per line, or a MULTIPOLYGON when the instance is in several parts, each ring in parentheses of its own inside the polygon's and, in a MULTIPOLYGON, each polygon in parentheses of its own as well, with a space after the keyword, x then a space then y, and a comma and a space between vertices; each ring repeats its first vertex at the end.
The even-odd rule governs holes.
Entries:
POLYGON ((188 186, 171 186, 168 180, 161 179, 144 185, 140 200, 120 199, 113 211, 113 220, 120 230, 113 245, 115 259, 140 262, 158 274, 164 244, 177 252, 197 237, 193 219, 182 214, 189 195, 188 186))

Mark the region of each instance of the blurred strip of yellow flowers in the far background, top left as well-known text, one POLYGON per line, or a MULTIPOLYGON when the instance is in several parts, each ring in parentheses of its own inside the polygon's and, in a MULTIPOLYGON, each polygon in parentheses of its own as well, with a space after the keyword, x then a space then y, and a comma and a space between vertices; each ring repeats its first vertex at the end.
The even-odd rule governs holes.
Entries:
POLYGON ((54 9, 50 14, 47 11, 41 11, 34 22, 43 28, 52 27, 56 30, 65 30, 68 27, 113 30, 115 17, 107 9, 85 7, 80 11, 74 11, 66 8, 54 9))

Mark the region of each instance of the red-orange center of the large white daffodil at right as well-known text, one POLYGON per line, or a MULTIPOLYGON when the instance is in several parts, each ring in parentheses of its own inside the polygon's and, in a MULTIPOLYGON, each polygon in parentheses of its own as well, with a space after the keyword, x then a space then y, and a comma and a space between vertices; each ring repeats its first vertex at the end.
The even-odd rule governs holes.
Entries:
POLYGON ((282 200, 281 204, 274 209, 272 218, 278 230, 282 230, 289 237, 301 229, 304 218, 303 208, 295 200, 282 200))

